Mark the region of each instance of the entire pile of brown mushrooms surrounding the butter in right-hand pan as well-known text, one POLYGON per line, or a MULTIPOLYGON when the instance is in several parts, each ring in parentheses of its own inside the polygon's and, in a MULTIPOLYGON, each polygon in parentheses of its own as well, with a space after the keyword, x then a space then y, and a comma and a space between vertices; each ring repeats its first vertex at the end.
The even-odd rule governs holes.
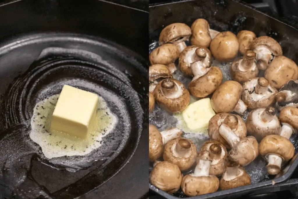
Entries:
POLYGON ((298 130, 298 66, 273 38, 249 30, 237 36, 218 32, 199 18, 191 26, 164 27, 149 58, 149 113, 156 106, 169 114, 182 112, 191 95, 211 98, 216 113, 209 120, 210 140, 200 148, 181 129, 159 131, 150 124, 150 183, 158 189, 196 196, 246 186, 251 177, 243 166, 259 154, 269 175, 279 174, 294 157, 290 138, 298 130), (229 62, 232 80, 222 82, 212 57, 229 62), (188 85, 175 79, 177 70, 191 80, 188 85))

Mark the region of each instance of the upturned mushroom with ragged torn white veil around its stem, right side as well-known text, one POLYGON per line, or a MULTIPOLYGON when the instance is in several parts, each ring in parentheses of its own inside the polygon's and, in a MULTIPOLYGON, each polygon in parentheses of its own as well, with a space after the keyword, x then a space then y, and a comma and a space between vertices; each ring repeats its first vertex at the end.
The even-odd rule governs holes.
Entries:
POLYGON ((260 77, 253 78, 243 84, 241 99, 249 109, 266 108, 274 103, 278 91, 269 84, 268 80, 260 77))

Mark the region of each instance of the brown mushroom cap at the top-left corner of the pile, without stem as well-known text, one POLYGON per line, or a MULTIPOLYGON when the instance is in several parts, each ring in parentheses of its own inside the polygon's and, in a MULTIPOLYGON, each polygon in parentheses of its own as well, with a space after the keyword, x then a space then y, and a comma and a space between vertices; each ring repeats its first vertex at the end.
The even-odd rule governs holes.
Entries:
POLYGON ((165 43, 172 43, 181 37, 185 37, 188 40, 191 35, 191 29, 188 25, 183 23, 170 24, 162 30, 159 35, 159 45, 165 43))

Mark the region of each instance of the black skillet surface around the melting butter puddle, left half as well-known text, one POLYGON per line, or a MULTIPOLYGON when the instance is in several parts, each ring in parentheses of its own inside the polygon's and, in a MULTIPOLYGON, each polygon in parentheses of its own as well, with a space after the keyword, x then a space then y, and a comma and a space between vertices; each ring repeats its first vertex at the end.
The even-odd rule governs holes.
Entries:
POLYGON ((21 0, 0 5, 0 17, 0 198, 144 196, 148 13, 97 0, 21 0), (95 159, 48 160, 28 138, 36 102, 65 82, 102 95, 118 116, 95 159))

